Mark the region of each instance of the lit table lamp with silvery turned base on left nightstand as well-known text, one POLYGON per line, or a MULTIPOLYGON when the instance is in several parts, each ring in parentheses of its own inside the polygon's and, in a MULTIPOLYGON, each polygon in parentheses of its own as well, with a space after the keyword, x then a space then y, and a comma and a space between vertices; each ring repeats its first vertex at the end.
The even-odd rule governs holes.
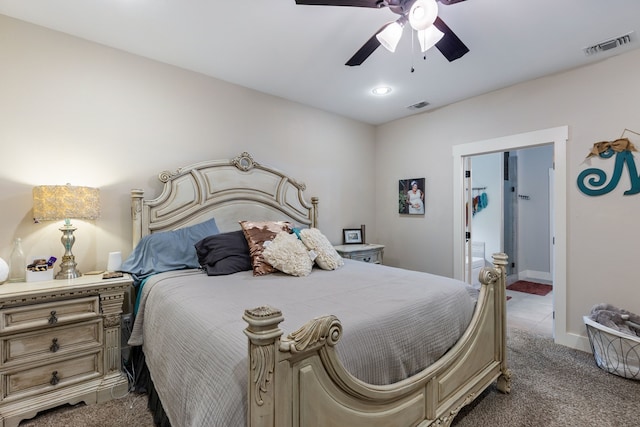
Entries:
POLYGON ((96 219, 100 216, 100 190, 91 187, 67 185, 41 185, 33 188, 33 220, 52 221, 64 219, 62 246, 64 255, 60 262, 60 271, 56 279, 74 279, 82 276, 76 268, 71 248, 75 243, 73 232, 77 230, 71 224, 74 219, 96 219))

